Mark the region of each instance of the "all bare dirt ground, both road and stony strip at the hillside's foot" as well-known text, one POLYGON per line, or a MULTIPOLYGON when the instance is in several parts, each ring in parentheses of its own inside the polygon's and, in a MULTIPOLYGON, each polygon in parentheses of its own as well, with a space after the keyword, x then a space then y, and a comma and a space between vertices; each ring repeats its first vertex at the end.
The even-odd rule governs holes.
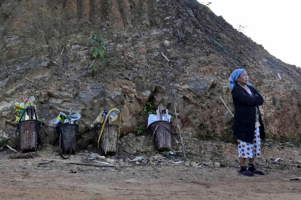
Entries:
POLYGON ((283 181, 301 176, 299 145, 285 147, 275 141, 264 143, 265 159, 257 159, 257 166, 265 175, 245 177, 237 173, 235 144, 194 141, 204 152, 209 152, 210 146, 223 146, 222 155, 213 156, 209 152, 192 156, 189 146, 188 159, 175 164, 173 162, 181 161, 181 153, 165 158, 158 152, 122 151, 98 160, 132 167, 96 167, 68 164, 101 163, 88 159, 90 155, 78 153, 63 160, 57 147, 50 145, 30 154, 3 149, 0 152, 0 199, 301 199, 301 181, 283 181), (24 156, 29 158, 17 159, 24 156), (145 159, 138 163, 129 161, 136 156, 145 159), (277 157, 280 159, 274 162, 277 157), (226 164, 220 162, 221 168, 210 168, 209 161, 215 163, 221 158, 226 164), (57 160, 39 164, 45 159, 57 160), (200 164, 193 167, 193 161, 200 164))

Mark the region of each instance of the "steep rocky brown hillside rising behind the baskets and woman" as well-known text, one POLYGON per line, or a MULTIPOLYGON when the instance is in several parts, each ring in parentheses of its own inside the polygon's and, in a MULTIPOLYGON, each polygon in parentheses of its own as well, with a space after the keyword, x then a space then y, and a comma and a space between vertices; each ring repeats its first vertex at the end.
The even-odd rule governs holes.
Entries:
POLYGON ((44 143, 58 141, 53 121, 69 108, 82 115, 82 148, 95 144, 90 123, 103 109, 121 110, 123 134, 147 122, 140 112, 148 102, 168 108, 175 124, 173 88, 184 135, 233 140, 232 116, 219 96, 234 112, 228 77, 245 68, 265 99, 268 136, 300 140, 300 68, 196 0, 3 0, 0 14, 1 137, 14 135, 14 103, 30 96, 44 143), (91 73, 93 34, 117 61, 97 59, 91 73))

